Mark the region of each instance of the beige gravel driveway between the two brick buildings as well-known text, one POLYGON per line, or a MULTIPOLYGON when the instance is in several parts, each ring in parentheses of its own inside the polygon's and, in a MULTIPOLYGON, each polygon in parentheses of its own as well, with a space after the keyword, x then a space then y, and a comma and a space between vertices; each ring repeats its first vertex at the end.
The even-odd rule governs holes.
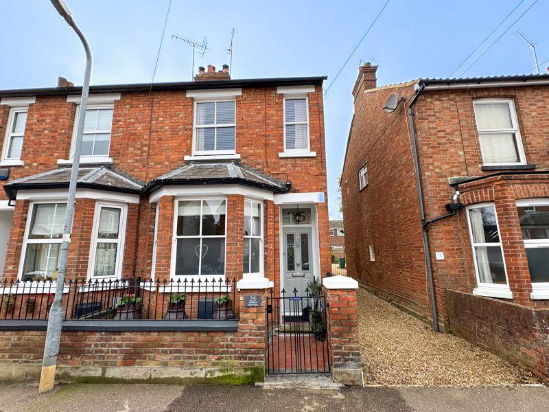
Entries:
POLYGON ((366 385, 484 387, 539 383, 502 358, 429 325, 360 288, 360 350, 366 385))

